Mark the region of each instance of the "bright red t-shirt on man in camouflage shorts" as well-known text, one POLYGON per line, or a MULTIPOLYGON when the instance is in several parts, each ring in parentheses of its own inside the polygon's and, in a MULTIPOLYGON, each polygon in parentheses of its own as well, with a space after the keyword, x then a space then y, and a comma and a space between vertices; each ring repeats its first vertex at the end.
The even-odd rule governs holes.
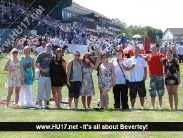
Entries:
POLYGON ((160 61, 161 58, 165 56, 161 53, 157 53, 157 56, 153 56, 152 53, 149 54, 150 58, 146 58, 149 70, 149 76, 152 75, 163 75, 163 66, 160 61))

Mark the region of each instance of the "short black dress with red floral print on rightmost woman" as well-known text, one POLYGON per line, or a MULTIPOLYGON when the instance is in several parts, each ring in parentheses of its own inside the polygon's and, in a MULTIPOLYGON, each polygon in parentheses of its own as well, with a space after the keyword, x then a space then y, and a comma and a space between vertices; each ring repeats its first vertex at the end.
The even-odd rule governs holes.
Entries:
POLYGON ((166 60, 166 64, 164 67, 165 71, 165 84, 166 85, 178 85, 178 74, 179 71, 179 64, 176 59, 168 62, 166 60))

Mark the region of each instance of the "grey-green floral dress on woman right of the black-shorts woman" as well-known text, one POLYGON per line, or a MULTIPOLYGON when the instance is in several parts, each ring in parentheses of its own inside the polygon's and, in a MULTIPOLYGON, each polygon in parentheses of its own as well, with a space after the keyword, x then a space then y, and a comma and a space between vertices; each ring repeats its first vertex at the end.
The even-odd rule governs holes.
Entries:
POLYGON ((93 96, 95 95, 92 68, 82 67, 83 82, 80 89, 81 96, 93 96))

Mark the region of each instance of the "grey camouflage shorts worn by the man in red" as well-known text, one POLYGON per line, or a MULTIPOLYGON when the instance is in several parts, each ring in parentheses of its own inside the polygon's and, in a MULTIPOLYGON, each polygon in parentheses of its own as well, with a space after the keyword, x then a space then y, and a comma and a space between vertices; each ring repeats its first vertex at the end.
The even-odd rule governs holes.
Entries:
POLYGON ((151 97, 156 97, 156 91, 158 96, 164 95, 164 79, 163 76, 150 76, 149 93, 151 97))

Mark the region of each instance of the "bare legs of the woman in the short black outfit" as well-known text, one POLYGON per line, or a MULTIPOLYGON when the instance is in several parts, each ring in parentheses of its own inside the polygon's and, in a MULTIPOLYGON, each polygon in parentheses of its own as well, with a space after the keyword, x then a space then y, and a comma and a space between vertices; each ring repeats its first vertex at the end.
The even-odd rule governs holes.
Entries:
POLYGON ((52 87, 52 95, 55 100, 55 107, 60 108, 60 104, 62 102, 62 94, 61 94, 62 87, 52 87))

